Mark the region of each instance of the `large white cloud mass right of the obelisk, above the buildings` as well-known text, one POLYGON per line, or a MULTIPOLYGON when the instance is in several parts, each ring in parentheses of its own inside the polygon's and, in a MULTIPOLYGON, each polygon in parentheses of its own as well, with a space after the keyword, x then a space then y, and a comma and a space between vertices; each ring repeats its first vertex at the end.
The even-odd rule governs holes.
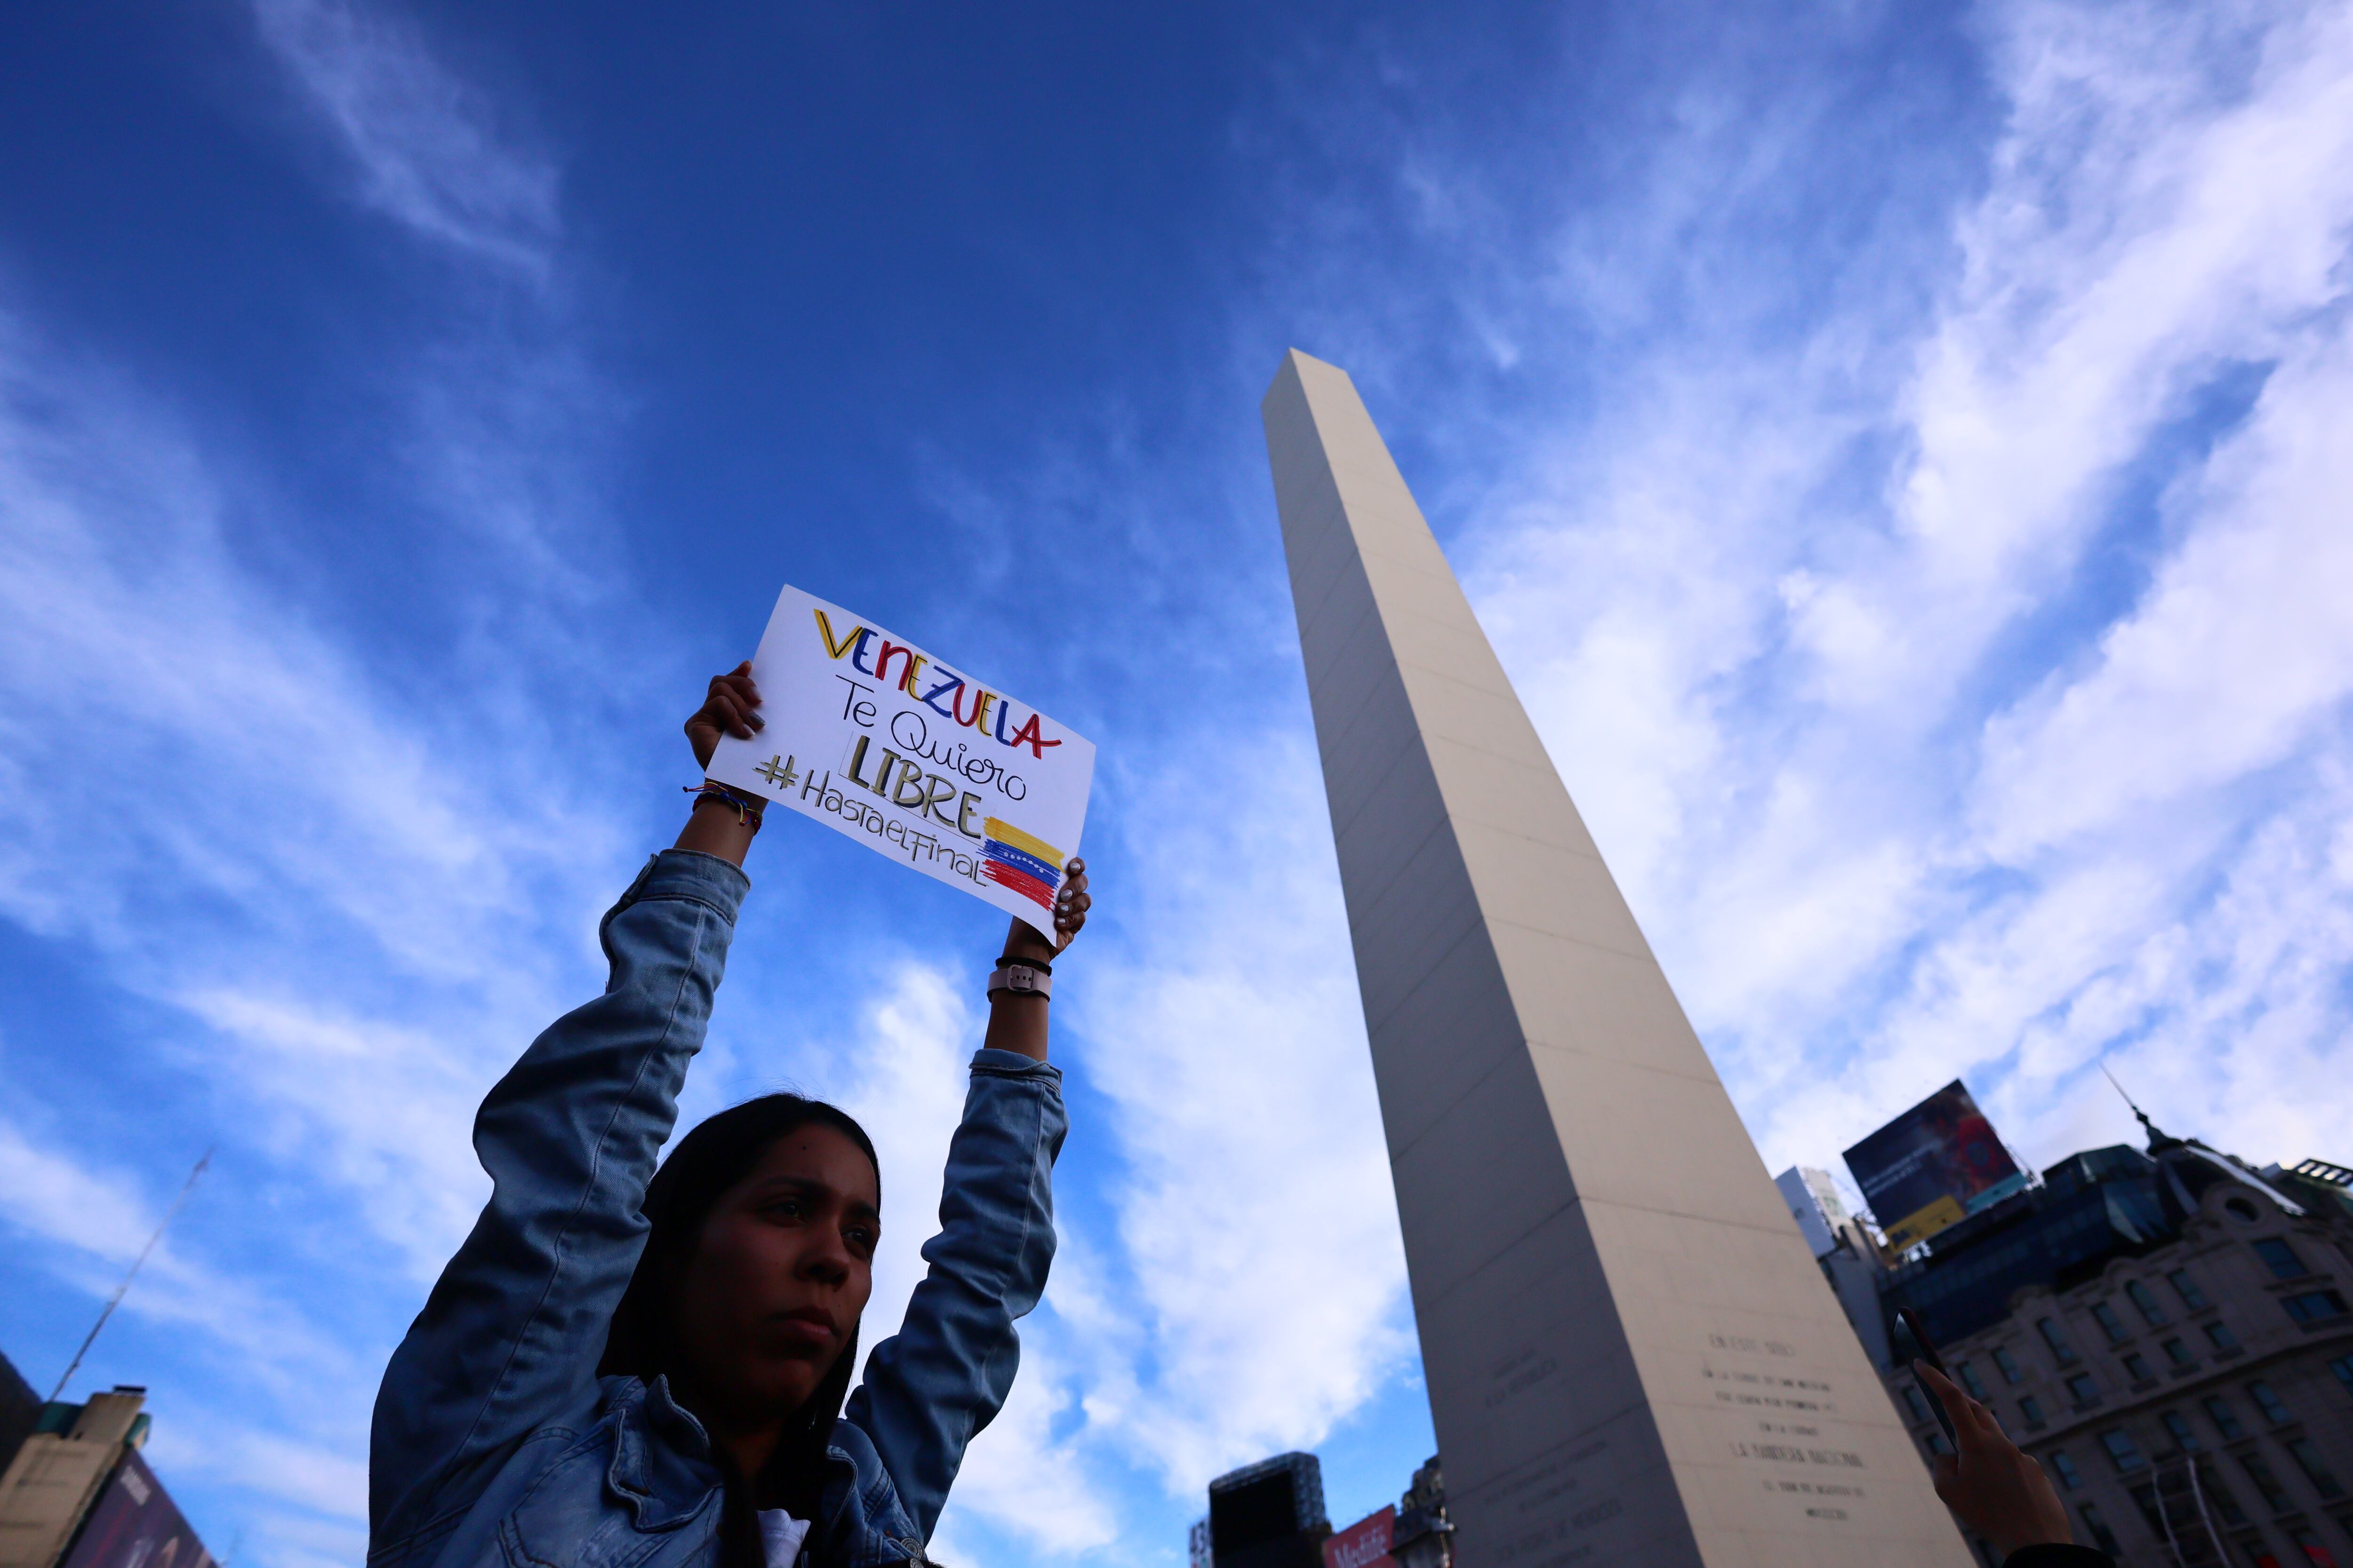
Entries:
POLYGON ((1772 350, 1772 407, 1753 362, 1642 343, 1631 397, 1494 454, 1511 527, 1466 576, 1774 1159, 1953 1072, 2045 1154, 2120 1135, 2075 1110, 2104 1048, 2172 1126, 2289 1154, 2344 1081, 2315 1065, 2353 964, 2320 849, 2353 689, 2353 12, 1988 26, 2009 118, 1882 381, 1882 501, 1821 510, 1866 430, 1821 343, 1889 320, 1864 296, 1772 350), (2198 400, 2249 362, 2202 447, 2198 400), (2146 527, 2134 473, 2174 475, 2146 527), (2104 607, 2132 527, 2148 581, 2104 607))

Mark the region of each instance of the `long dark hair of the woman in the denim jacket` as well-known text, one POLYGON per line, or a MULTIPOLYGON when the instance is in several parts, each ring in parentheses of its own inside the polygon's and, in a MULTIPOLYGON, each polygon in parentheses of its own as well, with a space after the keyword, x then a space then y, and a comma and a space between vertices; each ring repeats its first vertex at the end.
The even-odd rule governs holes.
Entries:
MULTIPOLYGON (((645 1253, 638 1258, 638 1272, 628 1279, 628 1291, 621 1293, 621 1305, 612 1312, 598 1375, 642 1378, 645 1382, 664 1373, 675 1378, 682 1354, 673 1302, 678 1276, 701 1244, 704 1220, 736 1182, 751 1175, 772 1143, 809 1124, 831 1126, 856 1145, 866 1164, 875 1168, 880 1199, 882 1161, 875 1159, 875 1145, 866 1138, 866 1128, 838 1105, 774 1093, 708 1117, 678 1140, 678 1147, 645 1187, 642 1213, 649 1225, 645 1253)), ((833 1422, 840 1420, 856 1359, 859 1333, 852 1324, 849 1340, 833 1368, 793 1410, 776 1441, 776 1453, 758 1476, 739 1476, 725 1453, 713 1453, 727 1476, 720 1514, 720 1563, 727 1568, 739 1563, 760 1568, 765 1563, 755 1495, 774 1497, 774 1507, 788 1509, 793 1519, 816 1521, 826 1441, 833 1436, 833 1422)))

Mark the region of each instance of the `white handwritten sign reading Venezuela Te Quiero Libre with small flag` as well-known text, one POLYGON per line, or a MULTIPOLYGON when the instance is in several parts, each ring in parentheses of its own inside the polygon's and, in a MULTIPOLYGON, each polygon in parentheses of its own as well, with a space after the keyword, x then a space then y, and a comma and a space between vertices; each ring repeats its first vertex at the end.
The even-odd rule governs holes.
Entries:
POLYGON ((760 717, 711 778, 765 795, 1052 936, 1094 743, 798 588, 751 658, 760 717))

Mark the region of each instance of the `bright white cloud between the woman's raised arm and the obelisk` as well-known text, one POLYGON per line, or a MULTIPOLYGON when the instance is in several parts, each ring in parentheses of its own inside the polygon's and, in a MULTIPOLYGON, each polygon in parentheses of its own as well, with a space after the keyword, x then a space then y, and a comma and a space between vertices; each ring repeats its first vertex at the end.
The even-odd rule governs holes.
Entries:
POLYGON ((1311 1443, 1412 1356, 1388 1152, 1315 755, 1261 736, 1224 790, 1155 778, 1118 952, 1080 1030, 1118 1105, 1122 1276, 1056 1295, 1087 1415, 1172 1490, 1311 1443), (1118 1366, 1106 1366, 1118 1363, 1118 1366))

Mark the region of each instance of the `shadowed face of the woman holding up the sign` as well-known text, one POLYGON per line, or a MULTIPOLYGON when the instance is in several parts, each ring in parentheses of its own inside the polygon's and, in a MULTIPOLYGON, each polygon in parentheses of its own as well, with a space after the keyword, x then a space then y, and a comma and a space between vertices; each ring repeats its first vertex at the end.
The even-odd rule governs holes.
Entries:
POLYGON ((727 1427, 798 1410, 866 1309, 880 1234, 880 1182, 849 1138, 809 1124, 772 1143, 678 1281, 694 1410, 727 1427))

